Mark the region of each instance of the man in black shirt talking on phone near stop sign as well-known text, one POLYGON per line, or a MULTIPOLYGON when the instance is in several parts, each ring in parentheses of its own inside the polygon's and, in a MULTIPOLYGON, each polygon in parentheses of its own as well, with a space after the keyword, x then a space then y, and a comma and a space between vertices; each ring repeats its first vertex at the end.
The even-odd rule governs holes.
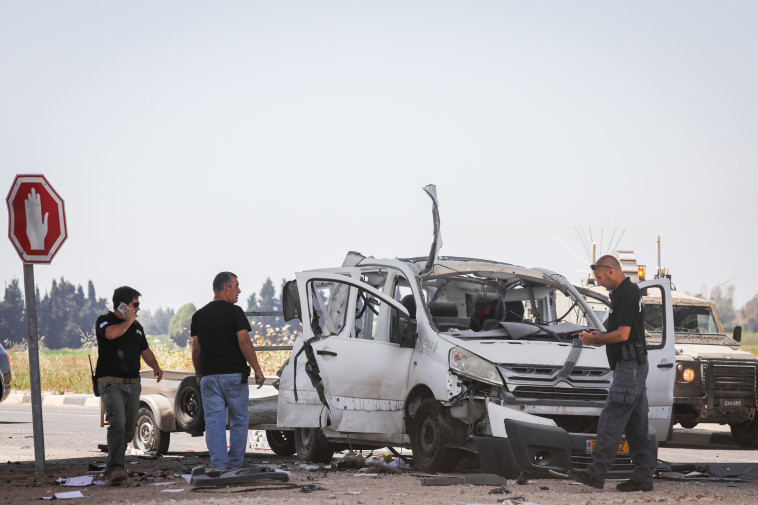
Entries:
POLYGON ((158 381, 163 370, 147 345, 145 330, 137 322, 140 293, 129 286, 113 292, 113 312, 97 318, 97 387, 108 421, 108 484, 118 486, 126 479, 126 444, 134 437, 139 410, 140 357, 153 369, 158 381))

